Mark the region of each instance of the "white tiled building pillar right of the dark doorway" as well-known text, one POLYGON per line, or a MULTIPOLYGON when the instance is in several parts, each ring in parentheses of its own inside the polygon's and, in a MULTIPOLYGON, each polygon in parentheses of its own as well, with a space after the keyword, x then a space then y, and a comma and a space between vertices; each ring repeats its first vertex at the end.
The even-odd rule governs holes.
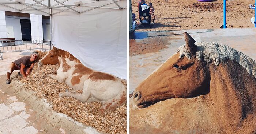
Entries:
POLYGON ((30 14, 32 40, 43 40, 42 15, 30 14))

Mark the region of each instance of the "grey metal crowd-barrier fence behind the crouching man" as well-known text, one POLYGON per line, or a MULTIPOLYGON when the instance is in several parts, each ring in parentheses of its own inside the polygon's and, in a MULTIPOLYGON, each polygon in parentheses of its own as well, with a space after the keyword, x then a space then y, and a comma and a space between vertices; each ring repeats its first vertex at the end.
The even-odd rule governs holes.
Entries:
POLYGON ((52 48, 50 40, 0 40, 0 59, 5 52, 49 51, 52 48))

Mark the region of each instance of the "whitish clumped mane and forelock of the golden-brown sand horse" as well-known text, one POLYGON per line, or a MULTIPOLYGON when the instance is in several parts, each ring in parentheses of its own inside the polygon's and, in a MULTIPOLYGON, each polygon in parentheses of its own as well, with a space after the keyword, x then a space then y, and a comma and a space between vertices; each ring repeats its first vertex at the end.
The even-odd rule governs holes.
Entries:
MULTIPOLYGON (((220 62, 225 62, 226 60, 232 60, 240 64, 249 73, 253 74, 256 78, 256 62, 249 56, 238 52, 237 50, 221 43, 214 42, 195 42, 197 46, 196 59, 201 62, 211 63, 214 62, 215 65, 219 66, 220 62)), ((180 52, 180 58, 186 56, 191 59, 191 54, 186 48, 186 44, 180 46, 176 53, 180 52)))

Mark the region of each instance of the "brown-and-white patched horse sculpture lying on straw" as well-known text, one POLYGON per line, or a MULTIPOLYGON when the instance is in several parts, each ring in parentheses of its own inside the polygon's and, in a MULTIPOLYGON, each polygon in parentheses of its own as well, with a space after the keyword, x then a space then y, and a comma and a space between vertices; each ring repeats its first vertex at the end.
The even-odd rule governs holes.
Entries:
POLYGON ((104 114, 126 102, 126 88, 121 79, 87 68, 67 51, 53 46, 53 49, 39 60, 38 66, 57 63, 57 75, 49 76, 59 82, 65 82, 73 89, 83 90, 82 94, 60 93, 60 97, 72 96, 87 103, 101 102, 103 105, 98 111, 99 114, 104 114))

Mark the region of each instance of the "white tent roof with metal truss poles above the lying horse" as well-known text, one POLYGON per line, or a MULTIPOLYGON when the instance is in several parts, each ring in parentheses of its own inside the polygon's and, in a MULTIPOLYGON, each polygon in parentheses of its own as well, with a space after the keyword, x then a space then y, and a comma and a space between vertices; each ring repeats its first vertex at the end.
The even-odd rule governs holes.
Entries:
POLYGON ((50 16, 64 11, 83 13, 95 8, 126 8, 126 1, 125 3, 118 1, 121 0, 0 0, 0 9, 50 16))

